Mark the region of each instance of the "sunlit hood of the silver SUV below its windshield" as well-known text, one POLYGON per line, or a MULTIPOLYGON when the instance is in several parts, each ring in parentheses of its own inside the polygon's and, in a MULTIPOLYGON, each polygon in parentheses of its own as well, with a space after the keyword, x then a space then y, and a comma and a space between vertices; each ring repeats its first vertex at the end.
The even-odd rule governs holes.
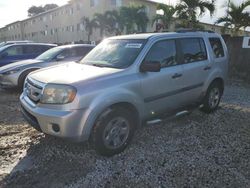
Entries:
POLYGON ((121 70, 71 62, 35 71, 30 74, 30 77, 43 83, 72 84, 100 78, 119 71, 121 70))

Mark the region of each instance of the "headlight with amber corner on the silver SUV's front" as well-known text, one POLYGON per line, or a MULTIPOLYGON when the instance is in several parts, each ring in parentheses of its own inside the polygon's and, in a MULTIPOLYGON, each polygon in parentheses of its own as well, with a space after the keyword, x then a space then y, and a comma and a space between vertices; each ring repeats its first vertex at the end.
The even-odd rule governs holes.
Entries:
POLYGON ((69 85, 48 84, 41 98, 44 104, 67 104, 74 100, 76 89, 69 85))

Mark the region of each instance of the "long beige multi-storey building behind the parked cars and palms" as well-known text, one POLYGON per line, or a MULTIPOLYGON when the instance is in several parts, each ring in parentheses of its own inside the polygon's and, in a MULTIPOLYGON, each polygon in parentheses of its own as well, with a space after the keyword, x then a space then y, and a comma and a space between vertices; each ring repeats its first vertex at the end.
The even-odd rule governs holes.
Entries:
MULTIPOLYGON (((156 14, 156 3, 150 0, 75 0, 73 3, 41 13, 34 17, 11 23, 0 29, 0 41, 32 40, 36 42, 66 43, 87 41, 83 17, 92 18, 95 13, 118 9, 121 6, 145 5, 150 18, 147 31, 154 31, 151 20, 156 14)), ((92 41, 101 40, 98 30, 92 41)))

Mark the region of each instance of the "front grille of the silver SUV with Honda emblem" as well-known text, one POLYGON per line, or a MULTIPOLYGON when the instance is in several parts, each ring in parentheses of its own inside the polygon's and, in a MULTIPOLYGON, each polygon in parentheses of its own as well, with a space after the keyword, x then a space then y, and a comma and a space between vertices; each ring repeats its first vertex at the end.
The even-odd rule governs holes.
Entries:
POLYGON ((24 85, 24 92, 29 97, 29 99, 34 103, 38 103, 40 101, 42 95, 42 89, 43 89, 42 86, 40 86, 37 83, 34 83, 30 79, 27 79, 24 85))

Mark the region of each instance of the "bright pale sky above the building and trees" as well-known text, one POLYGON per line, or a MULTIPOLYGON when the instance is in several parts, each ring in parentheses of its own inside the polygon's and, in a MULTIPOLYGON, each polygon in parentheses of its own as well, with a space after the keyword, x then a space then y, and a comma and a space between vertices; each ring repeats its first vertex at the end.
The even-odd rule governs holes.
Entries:
MULTIPOLYGON (((86 0, 85 0, 86 1, 86 0)), ((126 0, 125 0, 126 1, 126 0)), ((165 2, 168 4, 175 5, 178 0, 154 0, 157 2, 165 2)), ((244 0, 231 0, 237 3, 243 2, 244 0)), ((0 27, 27 18, 27 10, 32 5, 40 6, 49 3, 55 3, 57 5, 64 5, 68 0, 0 0, 0 27)), ((213 19, 209 14, 205 14, 200 18, 200 21, 205 23, 214 23, 218 17, 225 15, 225 6, 227 0, 216 1, 216 13, 213 19)))

